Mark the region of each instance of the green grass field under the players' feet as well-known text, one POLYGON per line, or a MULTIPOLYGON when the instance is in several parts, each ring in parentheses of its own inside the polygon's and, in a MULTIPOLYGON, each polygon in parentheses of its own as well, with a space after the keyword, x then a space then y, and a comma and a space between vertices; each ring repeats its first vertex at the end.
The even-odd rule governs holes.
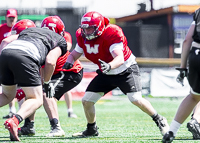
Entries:
MULTIPOLYGON (((182 99, 169 98, 148 98, 155 109, 168 119, 170 124, 182 99)), ((100 100, 96 103, 97 125, 99 136, 91 138, 72 138, 75 132, 83 131, 86 128, 86 119, 81 101, 73 101, 74 112, 77 119, 67 117, 67 108, 64 101, 58 102, 60 123, 65 131, 65 137, 47 138, 45 135, 50 132, 50 125, 44 108, 36 112, 35 129, 36 135, 32 137, 20 137, 23 143, 37 142, 81 142, 81 143, 156 143, 161 142, 162 136, 152 119, 143 113, 136 106, 133 106, 126 96, 120 96, 117 100, 100 100)), ((2 116, 8 113, 8 105, 0 109, 0 142, 10 142, 9 132, 4 129, 2 116)), ((174 142, 195 143, 192 135, 187 131, 184 122, 177 133, 174 142)), ((23 122, 20 126, 23 125, 23 122)))

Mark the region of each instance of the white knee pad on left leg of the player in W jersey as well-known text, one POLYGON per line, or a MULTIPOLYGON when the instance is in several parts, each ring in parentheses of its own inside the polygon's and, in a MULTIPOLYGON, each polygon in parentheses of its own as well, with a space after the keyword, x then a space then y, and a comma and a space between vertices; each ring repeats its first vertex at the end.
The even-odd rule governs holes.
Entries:
POLYGON ((104 95, 103 92, 90 92, 87 91, 82 98, 82 101, 89 101, 96 103, 102 96, 104 95))

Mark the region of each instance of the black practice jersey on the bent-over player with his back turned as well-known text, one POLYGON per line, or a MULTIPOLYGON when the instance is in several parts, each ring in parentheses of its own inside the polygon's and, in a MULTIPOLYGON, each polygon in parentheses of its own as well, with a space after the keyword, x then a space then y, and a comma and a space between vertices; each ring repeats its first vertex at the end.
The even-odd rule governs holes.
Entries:
POLYGON ((63 36, 55 33, 52 30, 32 27, 23 30, 17 40, 25 40, 33 43, 40 52, 40 64, 43 65, 45 58, 50 50, 55 47, 60 47, 62 55, 67 52, 67 43, 63 36))

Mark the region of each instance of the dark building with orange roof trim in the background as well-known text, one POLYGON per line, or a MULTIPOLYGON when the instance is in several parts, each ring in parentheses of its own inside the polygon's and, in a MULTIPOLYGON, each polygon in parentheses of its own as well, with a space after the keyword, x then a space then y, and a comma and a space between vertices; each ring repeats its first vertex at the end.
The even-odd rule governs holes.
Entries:
POLYGON ((178 5, 116 18, 136 57, 180 58, 182 42, 200 5, 178 5))

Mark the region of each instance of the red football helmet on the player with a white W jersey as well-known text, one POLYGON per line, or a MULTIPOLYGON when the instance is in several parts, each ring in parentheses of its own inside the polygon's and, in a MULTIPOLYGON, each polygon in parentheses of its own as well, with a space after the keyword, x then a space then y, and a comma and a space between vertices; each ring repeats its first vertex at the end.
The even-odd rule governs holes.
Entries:
POLYGON ((105 26, 109 23, 109 19, 103 17, 100 13, 96 11, 87 12, 83 15, 81 19, 81 33, 87 40, 92 40, 100 36, 105 26), (90 35, 87 35, 84 31, 85 28, 94 27, 94 32, 90 35))

